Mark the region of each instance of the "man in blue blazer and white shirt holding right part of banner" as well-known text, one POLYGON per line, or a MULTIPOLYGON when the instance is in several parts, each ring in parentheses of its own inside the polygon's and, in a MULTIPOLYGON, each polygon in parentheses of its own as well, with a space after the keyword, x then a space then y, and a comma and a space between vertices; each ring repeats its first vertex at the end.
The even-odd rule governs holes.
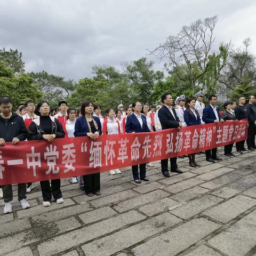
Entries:
MULTIPOLYGON (((205 124, 224 122, 224 120, 220 118, 220 110, 219 110, 219 107, 216 105, 217 96, 214 94, 211 94, 208 97, 208 100, 210 104, 206 106, 203 110, 202 119, 205 122, 205 124)), ((206 161, 211 163, 215 163, 215 160, 219 160, 219 161, 222 160, 220 157, 217 156, 217 148, 205 150, 205 156, 206 156, 206 161)))

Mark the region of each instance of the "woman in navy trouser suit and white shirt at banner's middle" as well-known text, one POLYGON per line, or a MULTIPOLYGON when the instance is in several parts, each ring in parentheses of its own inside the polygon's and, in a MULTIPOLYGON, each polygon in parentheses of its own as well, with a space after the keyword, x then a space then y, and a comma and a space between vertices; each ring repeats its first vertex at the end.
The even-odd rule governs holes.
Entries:
MULTIPOLYGON (((137 133, 137 132, 150 132, 147 125, 147 119, 144 115, 141 115, 141 103, 133 102, 132 111, 130 116, 127 116, 125 131, 126 133, 137 133)), ((132 175, 136 183, 141 183, 140 180, 149 181, 146 178, 146 164, 140 164, 140 178, 138 173, 138 165, 132 166, 132 175)))

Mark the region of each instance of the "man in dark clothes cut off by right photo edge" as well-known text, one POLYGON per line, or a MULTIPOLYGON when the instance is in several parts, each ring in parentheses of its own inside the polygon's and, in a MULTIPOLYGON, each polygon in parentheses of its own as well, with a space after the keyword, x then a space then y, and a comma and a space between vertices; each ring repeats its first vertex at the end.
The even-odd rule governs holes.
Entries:
POLYGON ((255 146, 255 134, 256 134, 256 109, 254 107, 255 97, 253 95, 249 96, 249 103, 246 104, 247 114, 248 114, 248 137, 247 137, 247 147, 249 150, 256 150, 255 146))

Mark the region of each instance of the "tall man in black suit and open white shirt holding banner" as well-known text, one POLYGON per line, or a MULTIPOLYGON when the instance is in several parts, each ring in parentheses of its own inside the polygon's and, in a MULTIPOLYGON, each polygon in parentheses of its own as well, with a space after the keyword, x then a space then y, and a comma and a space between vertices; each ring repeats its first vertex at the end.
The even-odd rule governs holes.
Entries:
MULTIPOLYGON (((162 130, 170 129, 170 128, 177 128, 178 130, 181 129, 182 123, 180 122, 179 118, 176 115, 175 110, 172 107, 172 96, 170 93, 164 93, 162 95, 161 101, 163 106, 158 111, 158 118, 162 125, 162 130)), ((177 166, 177 157, 170 158, 171 162, 171 172, 178 172, 183 173, 181 170, 178 169, 177 166)), ((161 160, 161 168, 162 173, 165 177, 170 177, 168 171, 168 159, 161 160)))

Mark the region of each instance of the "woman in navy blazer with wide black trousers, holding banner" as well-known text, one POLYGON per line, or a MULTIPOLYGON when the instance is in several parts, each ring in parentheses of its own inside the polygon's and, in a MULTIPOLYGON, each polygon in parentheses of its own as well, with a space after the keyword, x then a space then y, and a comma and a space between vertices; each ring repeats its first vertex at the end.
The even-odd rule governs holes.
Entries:
MULTIPOLYGON (((81 117, 76 119, 75 137, 87 136, 93 140, 101 135, 100 118, 93 116, 93 103, 86 100, 81 106, 81 117)), ((84 175, 84 190, 87 196, 100 195, 100 173, 84 175)))

